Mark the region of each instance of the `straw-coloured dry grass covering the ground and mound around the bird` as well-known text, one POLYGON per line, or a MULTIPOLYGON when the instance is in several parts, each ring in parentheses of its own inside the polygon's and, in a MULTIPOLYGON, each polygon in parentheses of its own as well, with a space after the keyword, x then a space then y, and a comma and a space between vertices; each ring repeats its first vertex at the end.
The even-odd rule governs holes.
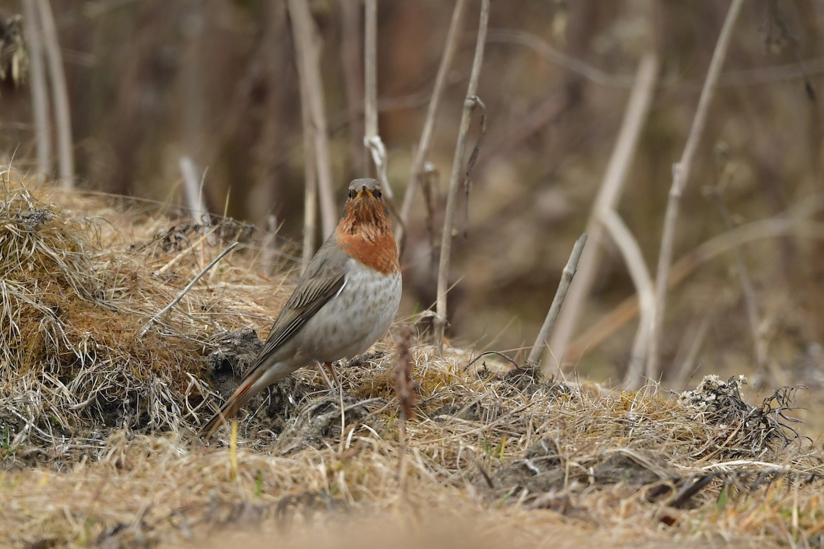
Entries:
POLYGON ((752 406, 718 379, 681 399, 617 393, 416 342, 403 446, 386 342, 340 369, 343 433, 337 396, 306 369, 241 416, 235 459, 228 429, 204 447, 205 402, 260 344, 241 328, 266 327, 288 278, 257 274, 251 242, 140 337, 242 231, 171 230, 124 199, 2 176, 3 545, 824 541, 821 447, 791 429, 791 394, 752 406))

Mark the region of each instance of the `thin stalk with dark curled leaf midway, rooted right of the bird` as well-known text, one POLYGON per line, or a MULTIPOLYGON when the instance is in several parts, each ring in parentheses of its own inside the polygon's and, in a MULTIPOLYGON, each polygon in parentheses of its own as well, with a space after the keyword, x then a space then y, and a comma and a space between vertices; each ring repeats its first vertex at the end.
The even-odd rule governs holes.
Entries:
POLYGON ((454 226, 455 219, 455 202, 457 199, 458 185, 461 183, 461 166, 463 165, 464 151, 466 151, 466 137, 469 133, 472 112, 475 110, 475 105, 477 105, 475 95, 477 94, 478 80, 480 79, 480 67, 484 64, 484 47, 488 26, 489 0, 482 0, 480 4, 480 22, 478 23, 478 39, 475 42, 475 58, 472 60, 469 85, 466 87, 466 98, 464 99, 463 113, 461 114, 461 125, 458 128, 455 157, 452 160, 452 175, 449 178, 447 210, 443 218, 441 257, 438 262, 438 297, 436 314, 433 319, 435 342, 438 344, 439 349, 443 346, 443 333, 447 326, 447 290, 449 284, 449 259, 452 254, 452 227, 454 226))

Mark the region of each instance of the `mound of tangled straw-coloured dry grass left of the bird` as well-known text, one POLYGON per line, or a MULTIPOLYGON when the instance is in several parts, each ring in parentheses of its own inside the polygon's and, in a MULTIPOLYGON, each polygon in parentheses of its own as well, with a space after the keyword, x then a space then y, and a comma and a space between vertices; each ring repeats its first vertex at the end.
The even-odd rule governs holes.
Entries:
POLYGON ((248 249, 143 333, 244 231, 180 225, 110 202, 2 174, 0 432, 12 448, 51 447, 59 456, 79 438, 102 443, 107 428, 196 422, 210 393, 204 356, 218 349, 214 338, 265 323, 277 306, 261 291, 248 249))

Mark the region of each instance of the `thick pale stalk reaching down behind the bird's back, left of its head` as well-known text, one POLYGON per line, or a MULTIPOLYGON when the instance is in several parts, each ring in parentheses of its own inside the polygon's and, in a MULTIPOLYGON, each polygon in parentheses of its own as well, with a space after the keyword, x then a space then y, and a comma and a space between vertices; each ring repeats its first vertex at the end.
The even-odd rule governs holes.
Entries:
POLYGON ((318 195, 321 202, 321 225, 325 238, 335 230, 338 212, 335 208, 329 132, 323 103, 319 45, 321 38, 318 35, 315 21, 312 20, 308 2, 288 0, 288 8, 294 29, 297 74, 301 81, 301 102, 307 104, 307 114, 312 126, 318 195))

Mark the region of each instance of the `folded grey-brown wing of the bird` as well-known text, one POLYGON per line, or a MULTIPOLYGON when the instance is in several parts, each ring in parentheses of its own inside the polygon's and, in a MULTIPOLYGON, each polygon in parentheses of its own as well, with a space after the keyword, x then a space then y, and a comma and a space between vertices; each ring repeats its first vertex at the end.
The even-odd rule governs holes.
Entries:
MULTIPOLYGON (((274 321, 263 351, 252 370, 283 345, 308 319, 332 299, 346 282, 346 260, 349 258, 335 244, 335 235, 321 246, 303 272, 297 287, 274 321)), ((251 371, 251 370, 250 370, 251 371)))

